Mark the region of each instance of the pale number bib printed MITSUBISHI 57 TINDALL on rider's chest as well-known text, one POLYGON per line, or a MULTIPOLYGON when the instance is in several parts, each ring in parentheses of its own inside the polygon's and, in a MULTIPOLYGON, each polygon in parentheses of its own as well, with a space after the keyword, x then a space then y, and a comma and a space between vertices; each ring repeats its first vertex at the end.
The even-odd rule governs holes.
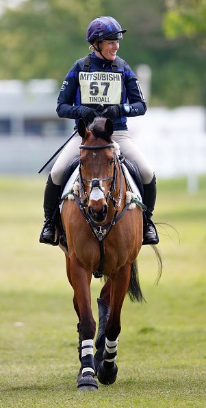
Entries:
POLYGON ((123 76, 120 72, 79 72, 81 104, 120 104, 123 76))

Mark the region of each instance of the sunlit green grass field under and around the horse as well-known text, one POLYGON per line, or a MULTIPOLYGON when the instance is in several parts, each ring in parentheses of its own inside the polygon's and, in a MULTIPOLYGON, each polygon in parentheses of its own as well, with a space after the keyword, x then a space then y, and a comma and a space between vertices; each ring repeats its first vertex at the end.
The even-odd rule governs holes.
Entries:
MULTIPOLYGON (((76 389, 77 317, 64 254, 40 245, 45 180, 1 178, 0 407, 206 407, 206 181, 159 181, 154 219, 164 272, 159 285, 150 247, 142 247, 146 304, 125 300, 118 378, 97 393, 76 389), (178 233, 178 234, 177 234, 178 233)), ((92 281, 92 302, 101 282, 92 281)))

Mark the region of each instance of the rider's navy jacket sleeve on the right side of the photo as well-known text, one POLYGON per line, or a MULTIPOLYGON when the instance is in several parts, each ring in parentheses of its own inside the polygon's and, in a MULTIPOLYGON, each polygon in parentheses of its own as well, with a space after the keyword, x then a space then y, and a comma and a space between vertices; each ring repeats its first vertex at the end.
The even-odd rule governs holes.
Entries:
POLYGON ((142 94, 142 89, 138 78, 135 73, 131 70, 129 65, 125 64, 125 87, 127 89, 127 98, 131 111, 129 117, 144 115, 146 112, 146 102, 142 94))

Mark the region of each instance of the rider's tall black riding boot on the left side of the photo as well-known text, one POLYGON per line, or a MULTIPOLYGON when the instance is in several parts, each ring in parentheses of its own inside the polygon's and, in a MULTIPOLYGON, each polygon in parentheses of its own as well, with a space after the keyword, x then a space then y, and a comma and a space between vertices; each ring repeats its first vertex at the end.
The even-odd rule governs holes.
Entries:
POLYGON ((44 191, 44 226, 40 242, 54 245, 55 243, 55 209, 59 203, 61 186, 54 184, 49 174, 44 191))

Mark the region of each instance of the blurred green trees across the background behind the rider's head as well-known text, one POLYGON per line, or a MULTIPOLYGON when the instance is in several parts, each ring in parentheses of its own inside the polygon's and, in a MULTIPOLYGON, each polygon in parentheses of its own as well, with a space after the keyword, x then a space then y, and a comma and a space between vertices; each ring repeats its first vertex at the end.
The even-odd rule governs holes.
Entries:
POLYGON ((131 68, 151 67, 151 104, 206 105, 205 0, 24 0, 0 16, 0 78, 61 83, 100 15, 127 28, 119 55, 131 68))

